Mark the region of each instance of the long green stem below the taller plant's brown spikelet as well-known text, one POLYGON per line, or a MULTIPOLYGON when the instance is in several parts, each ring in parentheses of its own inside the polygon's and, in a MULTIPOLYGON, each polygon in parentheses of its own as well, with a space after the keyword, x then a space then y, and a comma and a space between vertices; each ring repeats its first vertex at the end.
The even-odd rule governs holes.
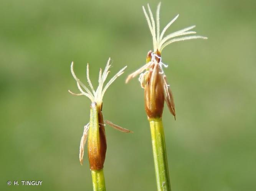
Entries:
POLYGON ((158 191, 170 191, 170 178, 165 149, 164 127, 162 118, 150 119, 151 139, 155 163, 155 176, 158 191))

